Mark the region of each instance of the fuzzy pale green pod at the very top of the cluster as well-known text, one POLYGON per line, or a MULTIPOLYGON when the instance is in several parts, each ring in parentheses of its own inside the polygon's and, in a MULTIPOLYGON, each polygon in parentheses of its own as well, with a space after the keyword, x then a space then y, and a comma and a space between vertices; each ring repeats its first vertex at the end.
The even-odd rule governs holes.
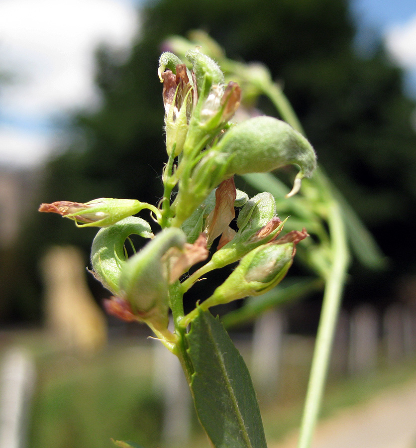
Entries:
POLYGON ((218 64, 209 56, 196 50, 189 50, 185 57, 193 65, 199 97, 208 97, 212 86, 224 84, 224 74, 218 64))

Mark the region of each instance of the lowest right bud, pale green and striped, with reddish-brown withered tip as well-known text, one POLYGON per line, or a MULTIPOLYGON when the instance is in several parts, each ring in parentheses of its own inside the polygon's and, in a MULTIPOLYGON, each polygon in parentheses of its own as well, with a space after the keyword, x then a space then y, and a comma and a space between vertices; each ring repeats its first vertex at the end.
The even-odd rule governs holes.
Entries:
POLYGON ((219 286, 202 307, 207 309, 241 299, 258 296, 275 287, 286 275, 296 253, 296 244, 308 233, 290 232, 281 240, 256 247, 245 255, 225 282, 219 286))

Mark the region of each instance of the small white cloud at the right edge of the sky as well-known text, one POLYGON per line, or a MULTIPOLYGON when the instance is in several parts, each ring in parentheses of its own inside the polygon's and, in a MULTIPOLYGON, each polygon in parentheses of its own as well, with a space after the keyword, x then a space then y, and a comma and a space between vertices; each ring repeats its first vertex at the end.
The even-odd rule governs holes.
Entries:
POLYGON ((416 15, 406 23, 389 28, 386 45, 398 64, 416 70, 416 15))

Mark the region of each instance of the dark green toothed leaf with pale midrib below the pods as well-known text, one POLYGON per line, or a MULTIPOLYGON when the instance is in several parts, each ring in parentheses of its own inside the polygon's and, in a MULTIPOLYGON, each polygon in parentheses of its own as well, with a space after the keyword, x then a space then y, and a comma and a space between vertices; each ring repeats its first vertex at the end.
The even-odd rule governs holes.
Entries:
POLYGON ((218 318, 200 310, 186 338, 195 408, 213 447, 266 448, 250 374, 218 318))

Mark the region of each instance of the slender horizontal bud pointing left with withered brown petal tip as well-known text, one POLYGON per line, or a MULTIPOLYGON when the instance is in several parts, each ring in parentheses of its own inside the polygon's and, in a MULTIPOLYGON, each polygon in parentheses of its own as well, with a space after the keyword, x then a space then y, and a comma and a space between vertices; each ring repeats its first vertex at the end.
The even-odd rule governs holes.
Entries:
POLYGON ((107 227, 147 207, 148 204, 136 199, 100 198, 85 204, 70 201, 41 204, 39 212, 58 213, 74 220, 78 227, 107 227))

